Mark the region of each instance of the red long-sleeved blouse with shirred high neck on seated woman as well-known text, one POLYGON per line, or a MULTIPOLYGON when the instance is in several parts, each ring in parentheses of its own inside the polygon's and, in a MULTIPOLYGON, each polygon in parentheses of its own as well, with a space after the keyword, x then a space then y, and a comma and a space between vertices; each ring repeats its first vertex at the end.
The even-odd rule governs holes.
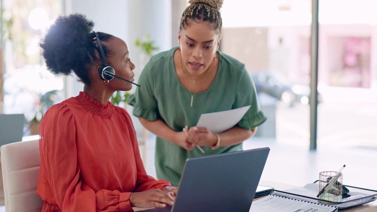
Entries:
POLYGON ((146 174, 126 110, 84 92, 47 110, 39 146, 42 212, 133 211, 131 192, 170 185, 146 174))

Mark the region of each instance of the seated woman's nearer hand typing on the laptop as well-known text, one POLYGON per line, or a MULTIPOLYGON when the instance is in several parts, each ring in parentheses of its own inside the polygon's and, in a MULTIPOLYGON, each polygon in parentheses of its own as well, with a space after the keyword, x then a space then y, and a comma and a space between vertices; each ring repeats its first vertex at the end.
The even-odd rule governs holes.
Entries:
POLYGON ((130 196, 130 204, 132 207, 140 208, 166 207, 174 204, 172 195, 175 195, 174 192, 160 189, 133 192, 130 196))

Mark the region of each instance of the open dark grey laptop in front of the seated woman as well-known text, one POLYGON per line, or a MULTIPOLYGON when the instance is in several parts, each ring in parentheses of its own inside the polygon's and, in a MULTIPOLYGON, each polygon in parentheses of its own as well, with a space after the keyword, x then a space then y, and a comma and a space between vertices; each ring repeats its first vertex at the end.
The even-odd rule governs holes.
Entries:
POLYGON ((248 212, 270 148, 188 158, 173 206, 145 212, 248 212))

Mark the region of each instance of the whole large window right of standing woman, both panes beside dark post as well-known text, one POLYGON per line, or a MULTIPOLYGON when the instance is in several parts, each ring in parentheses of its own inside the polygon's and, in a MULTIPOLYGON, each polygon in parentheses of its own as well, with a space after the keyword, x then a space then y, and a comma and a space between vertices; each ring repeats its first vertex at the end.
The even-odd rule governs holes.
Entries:
MULTIPOLYGON (((222 8, 221 51, 245 63, 270 117, 257 136, 278 143, 310 143, 311 4, 234 0, 222 8)), ((318 146, 377 146, 376 6, 319 2, 318 146)))

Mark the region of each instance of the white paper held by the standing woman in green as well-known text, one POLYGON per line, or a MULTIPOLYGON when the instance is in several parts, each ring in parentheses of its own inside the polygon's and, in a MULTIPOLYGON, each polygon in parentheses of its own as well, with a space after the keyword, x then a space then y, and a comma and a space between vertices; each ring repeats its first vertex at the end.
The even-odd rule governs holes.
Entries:
POLYGON ((213 133, 224 132, 233 128, 244 117, 251 105, 228 111, 200 115, 197 127, 208 128, 213 133))

